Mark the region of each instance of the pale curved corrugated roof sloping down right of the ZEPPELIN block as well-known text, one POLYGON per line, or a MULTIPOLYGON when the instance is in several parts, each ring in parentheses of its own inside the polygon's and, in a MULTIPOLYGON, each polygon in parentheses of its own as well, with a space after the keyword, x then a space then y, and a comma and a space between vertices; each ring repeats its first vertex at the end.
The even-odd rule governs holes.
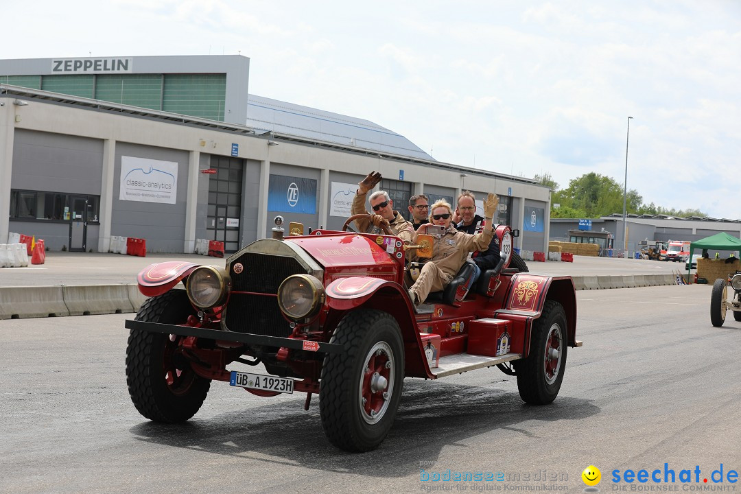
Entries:
POLYGON ((246 124, 257 133, 286 133, 343 146, 436 161, 408 138, 372 121, 253 94, 247 96, 246 124))

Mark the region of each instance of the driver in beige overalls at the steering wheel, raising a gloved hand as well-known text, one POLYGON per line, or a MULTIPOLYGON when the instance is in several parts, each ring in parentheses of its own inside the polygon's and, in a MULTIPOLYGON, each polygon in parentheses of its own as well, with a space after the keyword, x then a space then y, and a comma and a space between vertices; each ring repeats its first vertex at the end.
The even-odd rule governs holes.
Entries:
MULTIPOLYGON (((365 195, 368 190, 376 187, 376 184, 381 181, 381 174, 378 172, 368 173, 368 176, 358 184, 358 190, 353 198, 353 207, 351 212, 353 215, 356 214, 368 214, 365 210, 365 195)), ((407 221, 404 216, 399 214, 398 211, 393 210, 393 201, 388 197, 388 193, 383 190, 379 190, 371 194, 371 198, 368 199, 371 202, 373 213, 371 218, 356 219, 355 225, 358 231, 361 233, 382 233, 380 226, 382 224, 391 227, 393 234, 402 239, 405 242, 411 242, 412 236, 414 235, 414 228, 412 224, 407 221)))

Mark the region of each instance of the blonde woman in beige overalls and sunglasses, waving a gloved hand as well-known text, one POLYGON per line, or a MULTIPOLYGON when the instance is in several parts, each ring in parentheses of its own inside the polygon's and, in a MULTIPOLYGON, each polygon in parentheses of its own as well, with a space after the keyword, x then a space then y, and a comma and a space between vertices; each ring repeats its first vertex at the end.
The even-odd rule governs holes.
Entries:
MULTIPOLYGON (((453 212, 448 201, 436 201, 430 207, 430 223, 445 227, 445 233, 435 238, 432 257, 422 267, 419 277, 409 288, 409 297, 415 305, 421 304, 431 292, 443 290, 458 273, 468 253, 475 250, 486 250, 494 235, 491 218, 494 217, 499 198, 489 193, 484 200, 485 227, 481 233, 471 235, 461 232, 451 224, 453 212)), ((413 243, 417 243, 420 233, 427 233, 428 224, 423 224, 416 231, 413 243)), ((436 236, 437 237, 437 236, 436 236)))

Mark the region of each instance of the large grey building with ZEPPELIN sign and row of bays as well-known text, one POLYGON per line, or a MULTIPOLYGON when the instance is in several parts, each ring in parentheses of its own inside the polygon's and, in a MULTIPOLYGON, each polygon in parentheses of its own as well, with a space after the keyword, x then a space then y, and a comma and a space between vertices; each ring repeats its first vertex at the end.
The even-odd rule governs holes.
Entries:
POLYGON ((514 247, 548 249, 548 187, 436 161, 379 124, 251 95, 248 81, 243 56, 0 60, 0 242, 105 252, 124 236, 192 253, 207 238, 233 252, 277 215, 342 227, 356 184, 379 170, 407 217, 415 194, 495 192, 514 247))

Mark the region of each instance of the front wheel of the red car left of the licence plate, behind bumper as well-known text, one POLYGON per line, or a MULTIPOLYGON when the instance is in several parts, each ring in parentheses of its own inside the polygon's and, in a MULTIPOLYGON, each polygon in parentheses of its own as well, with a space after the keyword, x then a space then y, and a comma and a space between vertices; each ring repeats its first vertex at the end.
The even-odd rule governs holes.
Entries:
MULTIPOLYGON (((183 324, 196 311, 185 290, 147 299, 135 320, 183 324)), ((184 337, 131 330, 126 348, 126 382, 136 410, 157 422, 182 422, 199 410, 211 385, 180 353, 184 337)))

